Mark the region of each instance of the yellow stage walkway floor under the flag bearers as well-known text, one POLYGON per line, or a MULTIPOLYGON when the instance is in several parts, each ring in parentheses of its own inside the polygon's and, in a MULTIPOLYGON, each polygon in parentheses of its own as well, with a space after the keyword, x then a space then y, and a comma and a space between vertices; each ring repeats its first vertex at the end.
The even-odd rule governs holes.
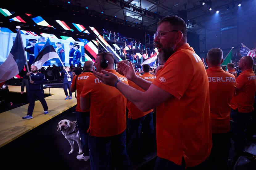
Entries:
MULTIPOLYGON (((20 86, 9 85, 8 87, 10 92, 20 93, 20 86)), ((76 105, 74 93, 71 100, 64 100, 63 89, 51 88, 50 91, 52 95, 45 98, 49 108, 47 115, 44 115, 39 100, 35 101, 33 119, 22 119, 27 115, 28 104, 0 113, 0 147, 76 105)), ((44 93, 49 94, 49 88, 44 89, 44 93)))

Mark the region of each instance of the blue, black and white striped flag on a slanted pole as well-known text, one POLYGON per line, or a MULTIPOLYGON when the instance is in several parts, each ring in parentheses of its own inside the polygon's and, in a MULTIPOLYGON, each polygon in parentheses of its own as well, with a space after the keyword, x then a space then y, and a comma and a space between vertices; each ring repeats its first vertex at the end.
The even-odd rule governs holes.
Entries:
MULTIPOLYGON (((56 53, 52 43, 50 42, 50 39, 48 38, 43 48, 36 56, 32 65, 35 65, 37 69, 41 69, 43 64, 52 58, 58 58, 60 60, 59 55, 56 53)), ((60 62, 62 61, 60 60, 60 62)))

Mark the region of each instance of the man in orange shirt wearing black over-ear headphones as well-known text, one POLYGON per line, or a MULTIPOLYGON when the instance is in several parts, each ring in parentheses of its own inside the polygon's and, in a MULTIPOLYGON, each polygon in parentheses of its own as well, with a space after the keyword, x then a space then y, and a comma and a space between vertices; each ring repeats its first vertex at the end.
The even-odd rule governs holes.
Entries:
MULTIPOLYGON (((96 71, 108 70, 128 85, 127 78, 114 70, 112 53, 98 53, 94 63, 96 71)), ((91 169, 109 169, 110 153, 115 168, 126 169, 129 156, 126 152, 126 103, 127 99, 116 89, 90 76, 84 82, 80 95, 83 111, 90 109, 89 155, 91 169)))

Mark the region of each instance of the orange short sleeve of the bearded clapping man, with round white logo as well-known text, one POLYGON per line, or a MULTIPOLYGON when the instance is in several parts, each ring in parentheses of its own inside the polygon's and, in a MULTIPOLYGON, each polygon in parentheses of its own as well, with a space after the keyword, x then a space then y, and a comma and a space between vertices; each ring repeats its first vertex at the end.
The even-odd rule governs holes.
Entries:
POLYGON ((153 84, 180 99, 193 75, 194 68, 190 57, 184 52, 179 52, 167 60, 153 84))

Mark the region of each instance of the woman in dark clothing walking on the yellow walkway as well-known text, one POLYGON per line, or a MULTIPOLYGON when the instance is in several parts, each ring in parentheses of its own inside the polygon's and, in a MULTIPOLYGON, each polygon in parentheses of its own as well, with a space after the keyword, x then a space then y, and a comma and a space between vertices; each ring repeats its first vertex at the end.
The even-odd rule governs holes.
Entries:
POLYGON ((71 87, 71 82, 72 82, 72 72, 70 71, 70 68, 69 67, 65 67, 62 71, 61 71, 61 74, 64 75, 64 79, 63 79, 63 89, 64 89, 64 92, 65 92, 65 95, 66 95, 66 98, 65 100, 67 99, 72 99, 72 92, 70 90, 70 87, 71 87), (68 74, 67 74, 68 72, 68 74), (68 96, 68 91, 69 91, 69 96, 68 96))

